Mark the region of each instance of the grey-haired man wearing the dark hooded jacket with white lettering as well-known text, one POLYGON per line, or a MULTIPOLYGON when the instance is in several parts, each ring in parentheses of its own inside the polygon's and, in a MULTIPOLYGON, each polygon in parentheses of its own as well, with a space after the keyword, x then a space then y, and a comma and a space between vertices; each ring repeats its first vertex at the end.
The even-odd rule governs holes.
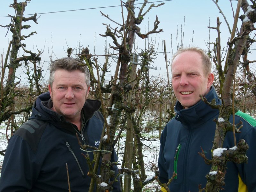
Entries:
MULTIPOLYGON (((86 100, 89 76, 80 60, 62 58, 51 63, 49 92, 37 98, 31 117, 6 149, 0 192, 63 192, 69 189, 68 181, 72 192, 88 191, 91 177, 81 153, 93 160, 93 149, 82 151, 76 134, 83 145, 98 147, 104 124, 100 101, 86 100)), ((111 160, 117 161, 114 149, 111 160)), ((122 191, 117 167, 112 170, 118 180, 113 191, 122 191)))

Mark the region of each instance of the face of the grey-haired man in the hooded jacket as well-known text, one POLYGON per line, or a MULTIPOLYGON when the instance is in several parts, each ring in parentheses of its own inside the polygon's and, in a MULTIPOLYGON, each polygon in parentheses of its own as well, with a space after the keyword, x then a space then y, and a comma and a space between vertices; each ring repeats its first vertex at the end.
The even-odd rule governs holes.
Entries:
POLYGON ((68 121, 80 120, 80 113, 87 99, 90 87, 85 83, 84 73, 58 69, 49 91, 53 103, 53 111, 63 115, 68 121))

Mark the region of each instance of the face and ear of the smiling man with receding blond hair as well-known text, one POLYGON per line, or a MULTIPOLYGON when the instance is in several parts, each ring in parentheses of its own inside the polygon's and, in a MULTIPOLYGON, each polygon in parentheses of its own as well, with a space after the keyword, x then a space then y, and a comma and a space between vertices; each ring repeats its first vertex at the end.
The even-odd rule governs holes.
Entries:
POLYGON ((205 76, 201 55, 194 51, 182 52, 172 62, 172 87, 178 101, 185 108, 192 107, 210 91, 214 76, 205 76))

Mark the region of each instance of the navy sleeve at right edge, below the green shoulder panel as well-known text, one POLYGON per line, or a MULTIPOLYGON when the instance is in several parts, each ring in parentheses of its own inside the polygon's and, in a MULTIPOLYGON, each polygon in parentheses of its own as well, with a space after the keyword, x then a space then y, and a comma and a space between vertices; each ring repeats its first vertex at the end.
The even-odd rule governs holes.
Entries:
POLYGON ((239 174, 244 184, 247 186, 248 192, 256 192, 256 121, 254 120, 254 127, 247 122, 243 122, 243 129, 246 127, 246 133, 243 139, 247 142, 249 149, 246 151, 246 156, 248 157, 247 164, 238 164, 239 174))

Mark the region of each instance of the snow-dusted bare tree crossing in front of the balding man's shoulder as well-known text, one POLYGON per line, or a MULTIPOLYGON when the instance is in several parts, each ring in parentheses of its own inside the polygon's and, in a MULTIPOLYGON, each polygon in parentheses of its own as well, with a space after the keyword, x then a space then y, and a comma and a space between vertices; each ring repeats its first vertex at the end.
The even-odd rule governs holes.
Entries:
MULTIPOLYGON (((215 3, 217 4, 218 1, 215 3)), ((217 106, 213 101, 207 101, 205 98, 202 98, 206 103, 208 103, 212 108, 218 108, 220 110, 220 114, 218 120, 216 122, 216 131, 215 137, 213 141, 212 151, 217 148, 222 148, 223 141, 225 135, 228 131, 232 131, 235 133, 239 132, 239 128, 241 124, 233 124, 229 122, 229 117, 235 112, 237 112, 237 108, 234 107, 234 95, 235 91, 232 91, 233 81, 235 80, 236 70, 238 65, 240 64, 241 55, 247 51, 252 40, 249 38, 250 33, 255 30, 253 27, 253 23, 256 21, 256 10, 255 1, 251 1, 252 5, 249 5, 246 0, 238 1, 241 4, 241 7, 244 11, 244 15, 240 16, 242 19, 242 26, 240 28, 238 36, 234 37, 236 30, 236 19, 234 22, 233 31, 231 33, 230 41, 228 42, 228 54, 226 59, 226 64, 224 67, 224 71, 222 70, 221 65, 221 47, 220 47, 220 21, 217 18, 217 27, 218 38, 215 44, 215 56, 216 59, 214 63, 216 64, 219 79, 220 79, 220 93, 222 98, 222 105, 217 106), (232 97, 233 95, 233 97, 232 97)), ((239 5, 240 6, 240 5, 239 5)), ((240 8, 238 6, 238 8, 240 8)), ((235 90, 235 85, 233 86, 235 90)), ((237 145, 235 150, 228 149, 225 150, 221 156, 212 156, 212 160, 205 159, 205 162, 211 163, 212 168, 210 172, 217 172, 215 175, 207 174, 207 184, 205 191, 219 191, 222 189, 222 186, 225 185, 224 178, 226 174, 226 163, 227 161, 233 161, 235 163, 246 163, 247 156, 245 155, 246 150, 248 149, 248 145, 244 140, 239 140, 236 144, 235 136, 234 136, 234 145, 237 145)), ((203 157, 204 154, 201 153, 203 157)))

